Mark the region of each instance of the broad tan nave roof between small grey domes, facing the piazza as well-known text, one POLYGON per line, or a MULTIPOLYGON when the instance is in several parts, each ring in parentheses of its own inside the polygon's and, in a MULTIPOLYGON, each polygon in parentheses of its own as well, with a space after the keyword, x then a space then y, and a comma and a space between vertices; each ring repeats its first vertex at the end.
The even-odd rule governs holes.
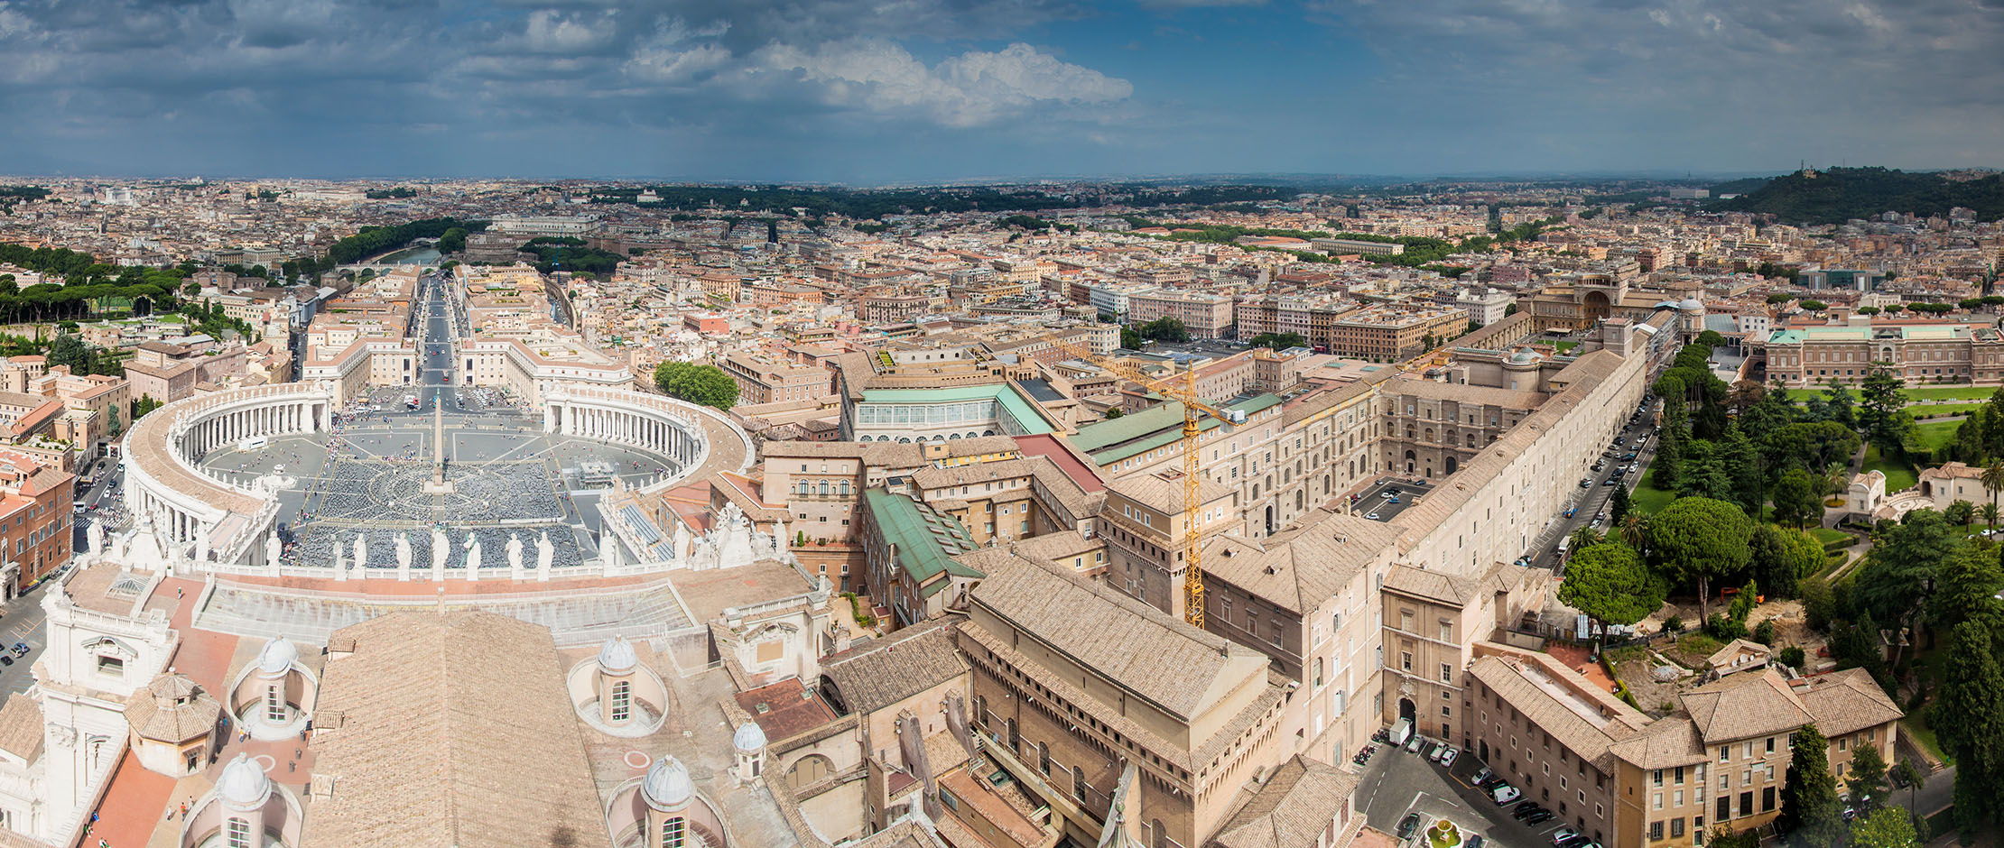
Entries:
POLYGON ((557 648, 485 611, 395 611, 333 633, 301 848, 607 844, 557 648), (325 796, 321 796, 325 792, 325 796))

